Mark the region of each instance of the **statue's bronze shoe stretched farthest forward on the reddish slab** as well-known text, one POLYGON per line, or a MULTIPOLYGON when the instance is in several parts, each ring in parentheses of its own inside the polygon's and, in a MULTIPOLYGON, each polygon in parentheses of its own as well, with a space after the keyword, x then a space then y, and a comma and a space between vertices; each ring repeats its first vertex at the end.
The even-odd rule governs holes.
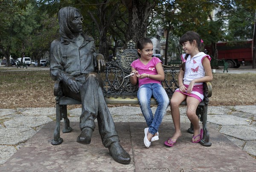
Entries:
POLYGON ((129 164, 131 162, 131 156, 122 148, 119 142, 112 143, 108 151, 116 162, 122 164, 129 164))

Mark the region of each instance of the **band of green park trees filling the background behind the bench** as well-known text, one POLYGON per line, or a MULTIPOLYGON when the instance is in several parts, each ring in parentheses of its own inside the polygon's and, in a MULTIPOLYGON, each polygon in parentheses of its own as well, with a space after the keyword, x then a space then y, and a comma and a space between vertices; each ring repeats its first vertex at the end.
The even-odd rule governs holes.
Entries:
POLYGON ((166 31, 166 57, 181 54, 178 39, 188 30, 215 52, 216 42, 252 39, 255 28, 254 0, 1 0, 0 56, 7 62, 10 55, 42 58, 59 37, 57 15, 64 6, 81 11, 84 32, 106 59, 130 39, 155 37, 158 27, 166 31))

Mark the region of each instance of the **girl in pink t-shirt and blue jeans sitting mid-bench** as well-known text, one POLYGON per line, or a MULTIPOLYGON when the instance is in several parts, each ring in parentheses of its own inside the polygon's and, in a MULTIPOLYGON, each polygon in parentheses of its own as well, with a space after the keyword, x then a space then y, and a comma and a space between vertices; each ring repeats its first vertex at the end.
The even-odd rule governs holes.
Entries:
POLYGON ((161 81, 165 78, 162 62, 157 57, 152 57, 152 41, 148 38, 141 38, 137 42, 137 50, 140 58, 131 63, 131 73, 135 74, 130 77, 130 81, 132 85, 137 85, 139 82, 137 97, 148 125, 144 129, 144 144, 149 147, 151 141, 159 139, 158 128, 169 105, 169 98, 161 85, 161 81), (154 116, 150 108, 151 96, 158 103, 154 116))

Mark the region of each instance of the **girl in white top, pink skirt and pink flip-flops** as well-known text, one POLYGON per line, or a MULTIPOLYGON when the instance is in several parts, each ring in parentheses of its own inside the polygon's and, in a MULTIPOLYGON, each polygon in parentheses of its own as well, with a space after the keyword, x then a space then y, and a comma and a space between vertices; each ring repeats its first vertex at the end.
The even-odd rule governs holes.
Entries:
POLYGON ((164 143, 169 147, 173 147, 181 136, 179 105, 185 99, 187 103, 186 115, 194 126, 194 135, 191 141, 192 143, 201 141, 203 130, 200 130, 196 109, 204 99, 203 82, 212 81, 211 58, 200 52, 204 48, 204 44, 199 34, 194 31, 186 32, 180 37, 180 45, 186 54, 181 56, 183 63, 178 76, 179 88, 173 93, 170 102, 175 133, 164 143))

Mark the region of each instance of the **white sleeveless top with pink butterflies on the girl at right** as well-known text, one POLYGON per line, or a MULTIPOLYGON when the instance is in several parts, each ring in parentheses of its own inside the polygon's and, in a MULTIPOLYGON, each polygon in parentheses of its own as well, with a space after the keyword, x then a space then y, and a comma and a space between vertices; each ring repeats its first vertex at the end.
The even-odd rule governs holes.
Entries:
MULTIPOLYGON (((181 59, 184 62, 185 61, 186 54, 181 55, 181 59)), ((186 65, 185 65, 185 74, 183 78, 183 83, 189 85, 189 83, 193 79, 202 78, 205 76, 204 66, 203 66, 203 59, 207 57, 211 61, 211 57, 204 52, 200 52, 193 56, 191 59, 191 56, 189 55, 186 59, 186 65)), ((195 83, 196 85, 203 84, 201 83, 195 83)))

